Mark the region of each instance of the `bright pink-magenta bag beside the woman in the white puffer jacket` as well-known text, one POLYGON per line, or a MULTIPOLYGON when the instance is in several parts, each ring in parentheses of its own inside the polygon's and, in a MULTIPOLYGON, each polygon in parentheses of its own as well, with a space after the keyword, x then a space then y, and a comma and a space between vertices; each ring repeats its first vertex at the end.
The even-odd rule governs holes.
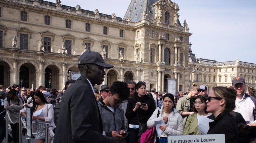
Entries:
MULTIPOLYGON (((158 109, 157 117, 160 114, 159 109, 158 109)), ((155 138, 156 138, 156 127, 154 126, 146 130, 145 133, 141 134, 139 143, 155 143, 155 138)))

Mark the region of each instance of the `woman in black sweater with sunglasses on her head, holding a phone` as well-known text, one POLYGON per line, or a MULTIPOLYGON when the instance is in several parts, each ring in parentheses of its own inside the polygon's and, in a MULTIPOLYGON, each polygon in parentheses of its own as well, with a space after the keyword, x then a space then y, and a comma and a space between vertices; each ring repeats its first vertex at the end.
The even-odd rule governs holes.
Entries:
POLYGON ((135 94, 127 104, 125 116, 129 121, 129 142, 137 143, 139 139, 139 123, 147 126, 147 121, 156 109, 154 99, 146 95, 146 82, 139 81, 135 85, 135 94))

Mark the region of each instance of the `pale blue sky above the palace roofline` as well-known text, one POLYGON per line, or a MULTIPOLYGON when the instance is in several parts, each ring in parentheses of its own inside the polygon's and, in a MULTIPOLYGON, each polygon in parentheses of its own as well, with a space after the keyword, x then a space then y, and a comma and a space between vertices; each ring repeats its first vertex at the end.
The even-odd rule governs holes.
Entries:
MULTIPOLYGON (((52 2, 55 2, 51 0, 52 2)), ((131 0, 61 0, 61 4, 123 18, 131 0)), ((256 63, 255 0, 172 0, 189 27, 196 58, 256 63)))

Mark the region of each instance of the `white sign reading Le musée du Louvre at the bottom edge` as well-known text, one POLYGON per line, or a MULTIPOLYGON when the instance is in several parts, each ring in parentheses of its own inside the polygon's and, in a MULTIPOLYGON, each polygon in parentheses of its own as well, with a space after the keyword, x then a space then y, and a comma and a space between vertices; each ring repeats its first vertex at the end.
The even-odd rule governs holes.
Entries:
POLYGON ((225 143, 224 134, 168 136, 168 143, 225 143))

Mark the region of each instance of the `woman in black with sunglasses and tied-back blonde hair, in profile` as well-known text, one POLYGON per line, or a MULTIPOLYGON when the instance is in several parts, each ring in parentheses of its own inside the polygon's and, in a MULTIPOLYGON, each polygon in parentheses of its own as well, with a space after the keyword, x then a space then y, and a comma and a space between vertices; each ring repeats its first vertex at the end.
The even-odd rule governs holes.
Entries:
POLYGON ((227 87, 217 86, 210 91, 207 97, 207 112, 215 117, 209 123, 207 134, 225 134, 225 143, 236 143, 238 127, 235 118, 231 115, 235 109, 236 92, 227 87))

